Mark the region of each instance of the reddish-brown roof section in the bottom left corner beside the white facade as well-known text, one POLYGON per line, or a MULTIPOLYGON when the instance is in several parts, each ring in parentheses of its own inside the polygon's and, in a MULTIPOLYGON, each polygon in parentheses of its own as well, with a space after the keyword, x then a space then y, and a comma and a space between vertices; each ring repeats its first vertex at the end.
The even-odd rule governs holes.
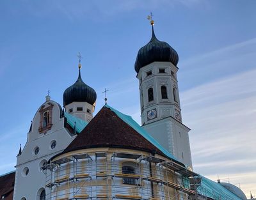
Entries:
POLYGON ((0 176, 0 197, 4 200, 13 199, 15 172, 0 176))

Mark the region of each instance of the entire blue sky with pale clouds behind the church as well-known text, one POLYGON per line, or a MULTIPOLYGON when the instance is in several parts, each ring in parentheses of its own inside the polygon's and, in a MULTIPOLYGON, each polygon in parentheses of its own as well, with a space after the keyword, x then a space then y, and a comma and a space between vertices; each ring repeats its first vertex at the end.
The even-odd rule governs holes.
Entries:
POLYGON ((13 170, 19 144, 47 90, 62 104, 82 77, 140 123, 134 61, 151 36, 179 54, 182 117, 195 171, 229 178, 256 196, 256 1, 0 1, 0 174, 13 170))

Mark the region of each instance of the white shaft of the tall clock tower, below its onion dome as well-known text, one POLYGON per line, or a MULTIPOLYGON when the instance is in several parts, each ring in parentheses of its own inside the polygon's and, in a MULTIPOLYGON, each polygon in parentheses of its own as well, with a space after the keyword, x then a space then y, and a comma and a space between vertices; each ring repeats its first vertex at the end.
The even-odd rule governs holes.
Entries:
POLYGON ((182 124, 177 71, 170 62, 140 69, 141 124, 166 150, 192 167, 190 129, 182 124))

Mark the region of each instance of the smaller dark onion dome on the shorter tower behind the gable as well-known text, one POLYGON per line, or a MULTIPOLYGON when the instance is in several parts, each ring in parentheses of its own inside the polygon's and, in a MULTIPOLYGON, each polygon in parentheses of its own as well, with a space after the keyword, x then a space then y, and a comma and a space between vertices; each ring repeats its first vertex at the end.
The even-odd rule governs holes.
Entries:
POLYGON ((63 93, 63 105, 71 104, 72 102, 87 102, 88 104, 94 104, 97 98, 97 94, 93 88, 86 85, 82 78, 79 69, 79 75, 77 81, 63 93))

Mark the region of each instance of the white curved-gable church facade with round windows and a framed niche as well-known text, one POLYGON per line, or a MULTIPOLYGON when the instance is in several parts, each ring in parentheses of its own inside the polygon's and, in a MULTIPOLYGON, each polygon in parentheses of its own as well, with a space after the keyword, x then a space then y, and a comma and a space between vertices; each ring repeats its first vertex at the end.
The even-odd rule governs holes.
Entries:
POLYGON ((48 99, 36 112, 26 145, 17 156, 14 200, 39 199, 45 188, 45 174, 40 168, 49 158, 67 148, 75 137, 64 128, 60 105, 48 99), (42 127, 42 116, 46 112, 49 114, 48 124, 42 127))

